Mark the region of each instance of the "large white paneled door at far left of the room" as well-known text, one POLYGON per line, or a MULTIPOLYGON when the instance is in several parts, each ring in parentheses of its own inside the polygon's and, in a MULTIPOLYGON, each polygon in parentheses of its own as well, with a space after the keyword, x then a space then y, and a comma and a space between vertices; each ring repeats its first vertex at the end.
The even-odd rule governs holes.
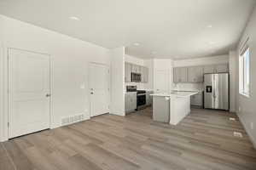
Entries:
POLYGON ((9 48, 9 138, 49 128, 49 55, 9 48))

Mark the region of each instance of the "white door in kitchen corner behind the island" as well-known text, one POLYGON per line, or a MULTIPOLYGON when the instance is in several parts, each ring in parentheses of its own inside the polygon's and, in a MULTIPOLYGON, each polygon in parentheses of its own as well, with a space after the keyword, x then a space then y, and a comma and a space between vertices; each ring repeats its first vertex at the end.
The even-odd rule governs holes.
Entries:
POLYGON ((170 90, 170 73, 167 70, 155 70, 154 91, 156 93, 168 93, 170 90))

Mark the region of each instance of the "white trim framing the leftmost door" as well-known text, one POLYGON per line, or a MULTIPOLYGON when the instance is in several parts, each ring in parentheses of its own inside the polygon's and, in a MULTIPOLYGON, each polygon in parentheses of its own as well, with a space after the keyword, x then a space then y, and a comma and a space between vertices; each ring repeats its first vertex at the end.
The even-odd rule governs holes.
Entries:
MULTIPOLYGON (((9 90, 9 49, 13 48, 13 49, 19 49, 19 50, 23 50, 23 51, 27 51, 27 52, 32 52, 32 53, 36 53, 36 54, 45 54, 45 53, 38 53, 32 50, 26 50, 26 49, 20 49, 20 48, 15 48, 10 46, 9 44, 3 44, 3 113, 2 113, 2 117, 3 117, 3 122, 0 123, 0 132, 1 132, 1 128, 2 128, 2 133, 0 133, 0 141, 6 141, 9 139, 9 128, 8 128, 8 122, 9 122, 9 94, 8 94, 8 90, 9 90), (3 126, 1 127, 1 124, 3 124, 3 126)), ((45 54, 45 55, 49 55, 49 65, 50 65, 50 118, 49 118, 49 128, 54 128, 56 126, 54 126, 54 120, 53 120, 53 59, 52 56, 50 54, 45 54)), ((0 113, 1 114, 1 113, 0 113)), ((0 115, 1 117, 1 115, 0 115)), ((1 120, 0 120, 1 121, 1 120)))

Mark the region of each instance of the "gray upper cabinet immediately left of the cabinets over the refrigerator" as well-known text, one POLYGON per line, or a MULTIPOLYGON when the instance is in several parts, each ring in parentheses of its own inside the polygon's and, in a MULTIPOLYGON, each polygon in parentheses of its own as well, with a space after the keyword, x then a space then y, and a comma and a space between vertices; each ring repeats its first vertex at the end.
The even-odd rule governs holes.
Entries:
POLYGON ((189 67, 189 82, 203 82, 202 66, 189 67))

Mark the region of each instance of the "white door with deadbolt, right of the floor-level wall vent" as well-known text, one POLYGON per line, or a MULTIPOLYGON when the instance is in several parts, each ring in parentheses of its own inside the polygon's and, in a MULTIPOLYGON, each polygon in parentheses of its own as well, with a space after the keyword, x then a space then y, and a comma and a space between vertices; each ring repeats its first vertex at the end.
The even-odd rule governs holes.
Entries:
POLYGON ((109 112, 109 68, 90 64, 90 116, 109 112))

